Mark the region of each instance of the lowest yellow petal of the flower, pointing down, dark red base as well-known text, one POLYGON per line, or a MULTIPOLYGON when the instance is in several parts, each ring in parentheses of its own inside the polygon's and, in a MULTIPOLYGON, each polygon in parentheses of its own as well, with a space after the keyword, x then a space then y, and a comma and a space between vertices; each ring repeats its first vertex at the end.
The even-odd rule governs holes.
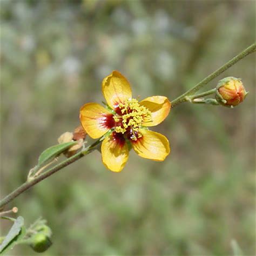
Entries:
POLYGON ((113 133, 102 142, 102 161, 112 172, 123 170, 129 157, 128 145, 122 133, 113 133))

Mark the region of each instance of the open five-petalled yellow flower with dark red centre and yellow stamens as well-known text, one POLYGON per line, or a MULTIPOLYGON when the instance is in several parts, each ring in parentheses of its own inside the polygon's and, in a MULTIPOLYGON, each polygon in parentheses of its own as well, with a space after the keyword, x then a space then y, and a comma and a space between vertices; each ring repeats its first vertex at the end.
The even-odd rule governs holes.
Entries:
POLYGON ((87 103, 80 109, 80 121, 93 139, 111 131, 101 146, 104 165, 113 172, 122 171, 131 147, 140 157, 163 161, 170 153, 169 141, 162 134, 147 130, 147 126, 158 125, 168 116, 169 99, 132 99, 130 84, 118 71, 103 79, 102 92, 109 107, 87 103))

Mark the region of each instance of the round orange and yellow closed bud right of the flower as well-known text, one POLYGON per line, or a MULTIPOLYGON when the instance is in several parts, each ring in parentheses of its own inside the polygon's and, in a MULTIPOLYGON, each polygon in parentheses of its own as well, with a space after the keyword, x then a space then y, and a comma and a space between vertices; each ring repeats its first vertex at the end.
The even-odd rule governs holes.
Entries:
POLYGON ((235 77, 221 79, 216 89, 215 98, 218 103, 227 107, 237 106, 247 95, 241 79, 235 77))

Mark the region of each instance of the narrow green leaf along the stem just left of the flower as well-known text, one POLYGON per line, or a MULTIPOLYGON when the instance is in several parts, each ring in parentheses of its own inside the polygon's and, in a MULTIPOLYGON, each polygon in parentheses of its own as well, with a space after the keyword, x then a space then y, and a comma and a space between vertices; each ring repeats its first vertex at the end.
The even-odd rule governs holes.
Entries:
POLYGON ((75 145, 77 142, 66 142, 62 144, 58 144, 55 146, 51 146, 39 156, 38 158, 38 166, 43 165, 46 161, 52 159, 53 157, 58 156, 60 153, 68 149, 69 147, 75 145))

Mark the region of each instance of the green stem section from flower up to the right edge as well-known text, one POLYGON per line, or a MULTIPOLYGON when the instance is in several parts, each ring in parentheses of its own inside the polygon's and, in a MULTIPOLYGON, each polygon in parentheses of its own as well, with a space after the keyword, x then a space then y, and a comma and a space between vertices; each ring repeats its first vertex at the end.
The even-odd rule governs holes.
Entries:
POLYGON ((237 56, 232 58, 230 61, 228 61, 226 64, 221 66, 219 69, 215 70, 213 73, 211 73, 209 76, 201 80, 196 86, 192 87, 190 90, 186 91, 183 95, 179 96, 178 98, 172 100, 172 107, 177 106, 180 103, 187 101, 187 96, 192 95, 193 93, 200 90, 203 86, 211 82, 215 77, 219 76, 221 73, 223 73, 225 70, 229 69, 231 66, 233 66, 235 63, 237 63, 242 58, 246 57, 252 52, 255 52, 256 50, 256 43, 250 45, 248 48, 246 48, 244 51, 239 53, 237 56))

